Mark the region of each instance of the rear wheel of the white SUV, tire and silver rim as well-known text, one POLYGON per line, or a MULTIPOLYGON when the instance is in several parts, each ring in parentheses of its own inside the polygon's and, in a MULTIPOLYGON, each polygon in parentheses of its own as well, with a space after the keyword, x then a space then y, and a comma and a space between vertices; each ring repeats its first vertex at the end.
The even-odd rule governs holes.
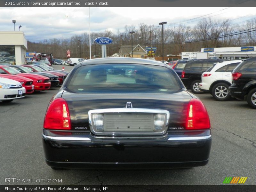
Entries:
POLYGON ((212 97, 217 101, 230 100, 231 95, 228 93, 228 87, 226 83, 217 83, 212 87, 212 97))

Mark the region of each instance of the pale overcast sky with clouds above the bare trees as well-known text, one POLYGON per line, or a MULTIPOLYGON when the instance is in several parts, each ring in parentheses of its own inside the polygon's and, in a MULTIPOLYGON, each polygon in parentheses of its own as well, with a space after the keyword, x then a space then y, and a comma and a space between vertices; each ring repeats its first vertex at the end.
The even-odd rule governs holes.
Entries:
MULTIPOLYGON (((123 32, 125 25, 138 27, 140 23, 159 27, 162 21, 167 21, 165 27, 176 22, 193 27, 202 16, 230 19, 238 26, 255 18, 255 10, 255 7, 91 7, 90 23, 91 32, 108 29, 113 33, 123 32)), ((32 42, 89 32, 88 7, 0 7, 0 30, 13 31, 12 20, 16 20, 15 30, 21 25, 20 30, 32 42)))

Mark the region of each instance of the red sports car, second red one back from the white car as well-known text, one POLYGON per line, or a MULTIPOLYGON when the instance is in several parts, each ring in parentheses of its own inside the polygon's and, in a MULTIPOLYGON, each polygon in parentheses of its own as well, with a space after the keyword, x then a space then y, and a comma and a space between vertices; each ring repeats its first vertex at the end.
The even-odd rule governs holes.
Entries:
POLYGON ((9 66, 0 66, 0 70, 3 70, 6 74, 22 76, 32 79, 36 91, 48 90, 51 87, 51 82, 48 77, 36 74, 20 73, 18 70, 11 68, 9 66))

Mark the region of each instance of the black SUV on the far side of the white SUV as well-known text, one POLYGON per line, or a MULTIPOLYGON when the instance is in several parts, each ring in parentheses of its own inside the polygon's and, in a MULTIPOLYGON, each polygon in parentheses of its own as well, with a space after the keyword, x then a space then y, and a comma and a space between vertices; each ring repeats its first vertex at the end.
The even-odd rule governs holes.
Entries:
POLYGON ((204 71, 212 67, 214 63, 218 63, 223 60, 219 59, 202 59, 202 60, 190 60, 181 73, 181 81, 187 87, 191 89, 193 93, 201 93, 199 90, 199 83, 201 83, 201 76, 204 71))

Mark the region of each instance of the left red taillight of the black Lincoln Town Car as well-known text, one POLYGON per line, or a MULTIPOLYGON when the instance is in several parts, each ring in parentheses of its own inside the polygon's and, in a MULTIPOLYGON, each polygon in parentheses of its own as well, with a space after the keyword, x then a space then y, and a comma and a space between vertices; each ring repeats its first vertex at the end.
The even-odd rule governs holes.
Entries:
POLYGON ((44 129, 70 130, 68 103, 63 98, 54 99, 44 117, 44 129))

